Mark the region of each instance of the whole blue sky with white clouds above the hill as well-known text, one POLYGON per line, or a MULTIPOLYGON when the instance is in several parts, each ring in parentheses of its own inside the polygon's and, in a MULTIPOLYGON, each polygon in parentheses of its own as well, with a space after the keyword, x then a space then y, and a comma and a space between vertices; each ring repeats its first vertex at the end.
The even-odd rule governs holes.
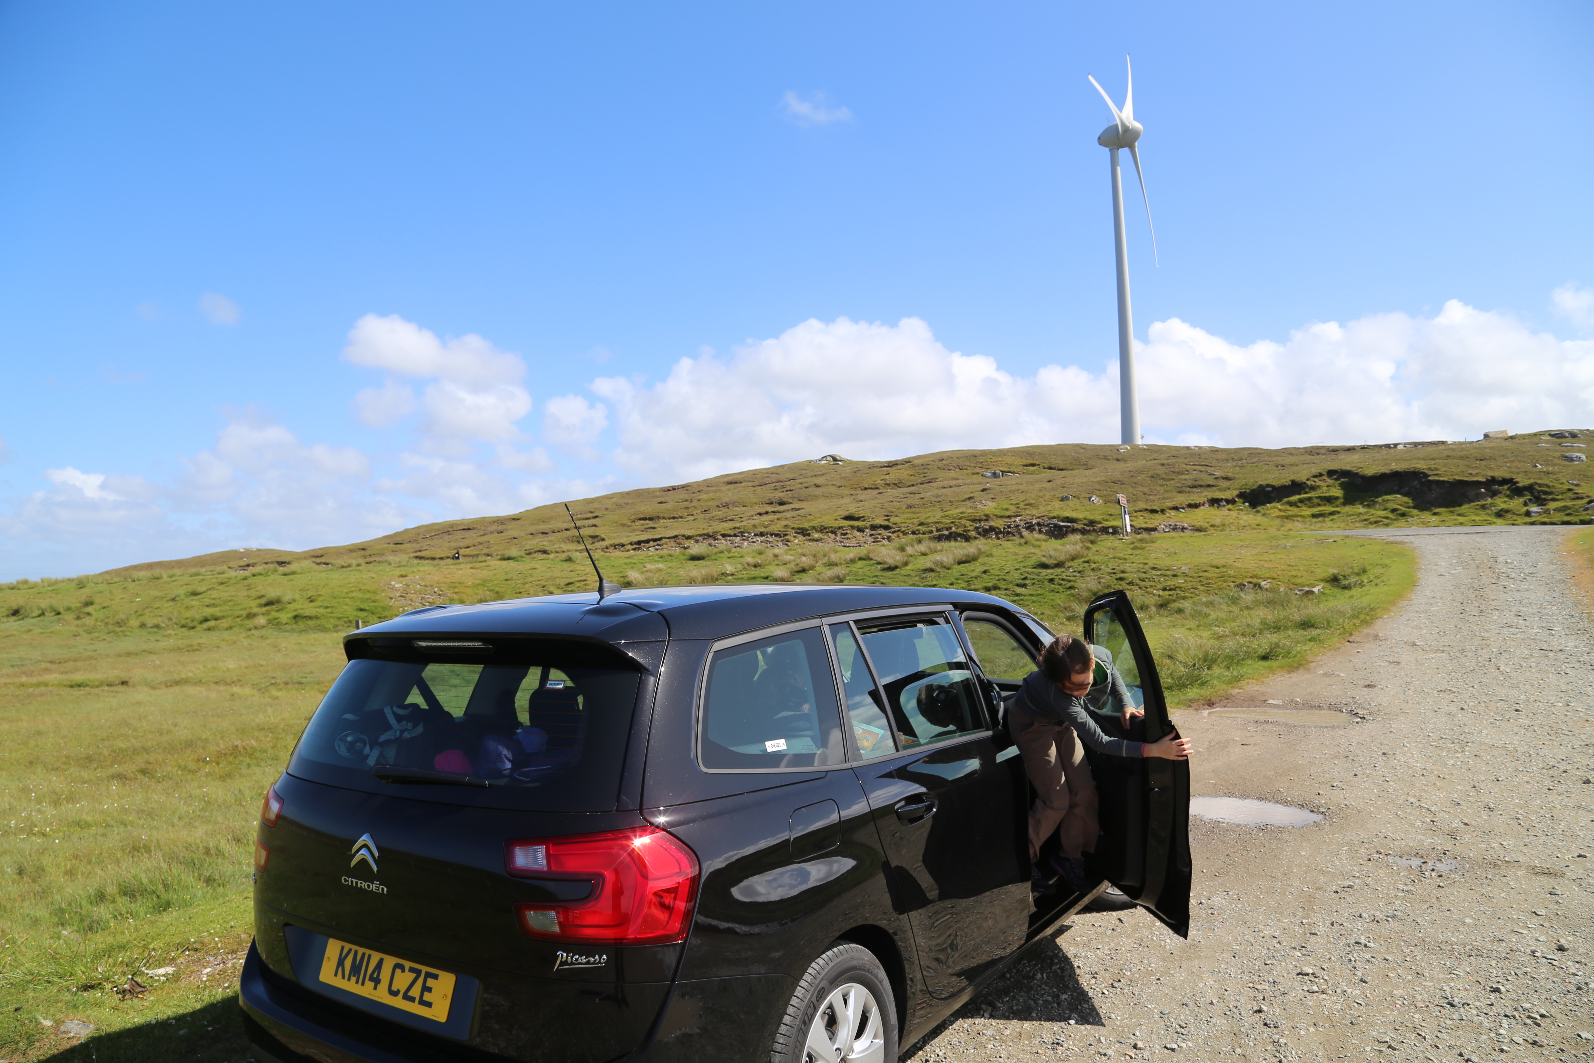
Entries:
POLYGON ((1148 440, 1594 422, 1588 3, 16 2, 0 579, 1111 441, 1125 53, 1148 440))

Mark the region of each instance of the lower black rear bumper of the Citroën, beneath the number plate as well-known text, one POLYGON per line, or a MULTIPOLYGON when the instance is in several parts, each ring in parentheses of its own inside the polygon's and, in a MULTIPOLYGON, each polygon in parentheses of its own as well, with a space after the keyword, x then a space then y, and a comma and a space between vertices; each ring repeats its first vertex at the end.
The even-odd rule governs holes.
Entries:
MULTIPOLYGON (((762 1063, 770 1055, 775 1026, 795 988, 795 982, 784 975, 677 982, 642 1045, 607 1058, 617 1063, 762 1063)), ((244 959, 238 996, 260 1063, 489 1063, 528 1058, 443 1044, 322 999, 268 971, 253 943, 244 959)), ((556 1057, 559 1063, 577 1058, 569 1047, 566 1041, 556 1057)), ((580 1058, 598 1061, 606 1055, 599 1050, 580 1058)))

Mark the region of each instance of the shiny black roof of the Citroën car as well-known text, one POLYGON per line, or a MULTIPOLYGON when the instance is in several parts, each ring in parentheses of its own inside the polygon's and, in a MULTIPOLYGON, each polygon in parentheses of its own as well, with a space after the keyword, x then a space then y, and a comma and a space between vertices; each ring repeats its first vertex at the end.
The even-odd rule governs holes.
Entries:
POLYGON ((1014 609, 980 591, 944 586, 859 586, 808 583, 716 583, 644 586, 609 594, 545 594, 480 606, 429 606, 347 637, 384 634, 550 634, 606 642, 717 639, 752 628, 827 614, 893 606, 958 602, 1014 609), (663 623, 660 623, 663 620, 663 623), (668 628, 665 626, 668 625, 668 628))

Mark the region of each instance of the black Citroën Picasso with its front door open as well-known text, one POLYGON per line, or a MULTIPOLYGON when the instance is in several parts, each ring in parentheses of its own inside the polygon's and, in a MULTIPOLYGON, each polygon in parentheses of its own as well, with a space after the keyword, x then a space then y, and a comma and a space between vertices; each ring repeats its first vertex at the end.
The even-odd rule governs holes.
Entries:
MULTIPOLYGON (((1172 732, 1129 599, 1084 633, 1172 732)), ((1183 762, 1092 757, 1093 891, 1031 896, 1003 695, 1050 633, 971 591, 682 586, 435 606, 266 794, 257 1058, 896 1060, 1108 881, 1189 918, 1183 762)))

